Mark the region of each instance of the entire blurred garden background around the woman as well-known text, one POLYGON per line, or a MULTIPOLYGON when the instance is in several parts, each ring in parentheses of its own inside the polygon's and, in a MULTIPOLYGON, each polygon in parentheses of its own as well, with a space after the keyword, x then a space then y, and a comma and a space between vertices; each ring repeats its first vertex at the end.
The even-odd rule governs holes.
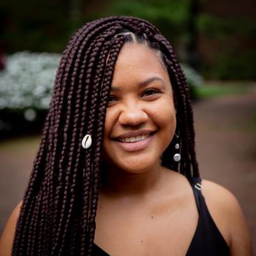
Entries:
POLYGON ((86 22, 133 15, 170 40, 188 78, 200 173, 232 191, 256 250, 256 1, 2 0, 0 232, 21 200, 61 52, 86 22))

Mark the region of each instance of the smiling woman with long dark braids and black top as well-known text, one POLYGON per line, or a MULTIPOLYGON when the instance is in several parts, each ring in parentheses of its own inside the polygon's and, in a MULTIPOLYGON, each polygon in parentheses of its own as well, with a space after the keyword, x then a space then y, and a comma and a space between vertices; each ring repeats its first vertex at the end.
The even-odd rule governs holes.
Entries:
POLYGON ((70 40, 1 250, 252 255, 236 198, 201 182, 188 84, 172 47, 146 20, 95 20, 70 40))

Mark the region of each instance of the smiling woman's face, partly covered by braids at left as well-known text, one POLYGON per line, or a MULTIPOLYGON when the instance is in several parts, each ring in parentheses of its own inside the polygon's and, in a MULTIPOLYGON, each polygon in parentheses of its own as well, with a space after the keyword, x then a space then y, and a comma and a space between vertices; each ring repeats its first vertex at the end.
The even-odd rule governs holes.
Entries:
POLYGON ((132 173, 159 166, 175 127, 172 86, 160 57, 147 45, 125 44, 116 61, 109 96, 104 162, 132 173))

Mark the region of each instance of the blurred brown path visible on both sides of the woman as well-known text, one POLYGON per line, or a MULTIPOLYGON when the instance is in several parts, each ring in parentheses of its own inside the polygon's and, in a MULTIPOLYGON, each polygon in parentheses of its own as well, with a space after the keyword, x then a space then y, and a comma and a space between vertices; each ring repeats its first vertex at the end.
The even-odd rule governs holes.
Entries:
MULTIPOLYGON (((256 90, 194 105, 200 173, 239 200, 256 250, 256 90)), ((0 143, 0 232, 22 198, 39 138, 0 143)))

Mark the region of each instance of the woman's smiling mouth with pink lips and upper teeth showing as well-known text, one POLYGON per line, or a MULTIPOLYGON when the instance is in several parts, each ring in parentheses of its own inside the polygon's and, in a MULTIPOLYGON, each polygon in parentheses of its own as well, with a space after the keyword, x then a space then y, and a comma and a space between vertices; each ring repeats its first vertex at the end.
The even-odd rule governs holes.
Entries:
POLYGON ((118 139, 115 140, 115 142, 122 150, 132 152, 147 148, 148 145, 150 145, 153 136, 154 134, 147 134, 142 136, 118 139))

